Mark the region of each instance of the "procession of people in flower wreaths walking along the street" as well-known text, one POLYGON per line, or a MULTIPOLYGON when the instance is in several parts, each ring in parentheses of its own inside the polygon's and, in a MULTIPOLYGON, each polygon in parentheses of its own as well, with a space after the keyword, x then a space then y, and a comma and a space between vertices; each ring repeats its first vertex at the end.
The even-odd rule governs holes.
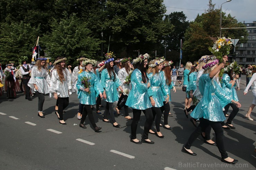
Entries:
MULTIPOLYGON (((79 127, 86 129, 84 121, 88 116, 95 132, 99 132, 101 127, 95 123, 92 106, 96 104, 96 112, 101 114, 99 107, 103 107, 101 105, 103 98, 106 101, 106 107, 102 121, 119 128, 120 124, 115 120, 113 104, 118 101, 115 107, 116 113, 119 115, 119 110, 123 107, 125 118, 131 120, 130 141, 136 144, 154 144, 148 138, 148 133, 164 138, 160 127, 172 129, 168 124, 168 116, 173 116, 170 113, 169 102, 171 102, 171 90, 176 92, 175 82, 178 80, 178 86, 182 87, 185 92, 185 116, 188 118, 189 112, 192 111, 190 121, 196 127, 182 147, 183 152, 196 156, 196 153, 191 150, 191 146, 201 135, 205 143, 218 147, 222 162, 232 164, 238 162, 228 157, 223 141, 223 129, 235 129, 232 120, 241 107, 235 89, 239 75, 234 74, 232 68, 228 67, 225 69, 221 81, 219 78, 220 70, 225 67, 228 60, 227 56, 224 56, 222 61, 215 56, 202 56, 193 64, 187 62, 185 68, 181 65, 179 69, 176 69, 175 66, 171 69, 173 62, 166 61, 164 58, 149 61, 147 53, 134 60, 130 58, 114 60, 111 52, 105 56, 106 60, 101 62, 81 57, 77 59, 79 64, 73 69, 73 72, 71 66, 66 65, 66 58, 63 57, 58 57, 48 67, 46 67, 47 59, 43 57, 38 58, 33 67, 24 61, 22 66, 17 69, 14 62, 10 62, 4 70, 4 89, 9 98, 16 98, 16 92, 22 89, 16 80, 16 74, 20 72, 18 77, 22 77, 25 98, 31 101, 31 94, 36 93, 38 96, 38 117, 45 118, 43 105, 45 94, 49 93, 49 97, 56 99, 55 114, 59 123, 64 125, 67 124, 63 119, 64 110, 69 104, 69 96, 75 93, 79 99, 77 112, 77 119, 80 120, 79 127), (181 83, 182 77, 184 77, 183 84, 181 83), (232 112, 227 114, 230 106, 232 112), (128 108, 132 109, 132 117, 129 115, 128 108), (136 134, 141 112, 145 114, 146 121, 142 139, 139 140, 136 134), (162 125, 163 113, 164 124, 162 125), (228 120, 225 123, 226 117, 228 120), (154 122, 156 131, 152 130, 154 122), (211 140, 211 129, 216 134, 216 142, 211 140)), ((2 76, 2 73, 0 75, 2 76)), ((248 81, 244 95, 255 81, 256 74, 248 81)), ((256 86, 255 84, 254 86, 256 86)), ((249 120, 253 120, 250 118, 250 113, 256 105, 255 89, 256 87, 253 91, 253 103, 246 114, 246 118, 249 120)), ((1 86, 0 90, 0 95, 2 95, 1 86)))

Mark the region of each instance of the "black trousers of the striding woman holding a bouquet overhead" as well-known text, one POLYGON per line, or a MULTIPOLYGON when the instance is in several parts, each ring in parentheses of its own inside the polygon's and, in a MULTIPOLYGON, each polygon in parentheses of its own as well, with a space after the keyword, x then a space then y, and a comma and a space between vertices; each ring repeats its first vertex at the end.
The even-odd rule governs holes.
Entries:
POLYGON ((228 158, 228 154, 224 147, 224 140, 223 140, 223 129, 220 122, 213 122, 204 118, 200 118, 199 126, 195 129, 195 131, 190 135, 189 140, 184 145, 186 149, 190 149, 192 146, 192 143, 196 140, 196 138, 202 133, 202 131, 205 131, 205 128, 208 126, 211 126, 212 129, 215 132, 216 135, 216 143, 217 147, 220 151, 221 158, 225 159, 228 158))

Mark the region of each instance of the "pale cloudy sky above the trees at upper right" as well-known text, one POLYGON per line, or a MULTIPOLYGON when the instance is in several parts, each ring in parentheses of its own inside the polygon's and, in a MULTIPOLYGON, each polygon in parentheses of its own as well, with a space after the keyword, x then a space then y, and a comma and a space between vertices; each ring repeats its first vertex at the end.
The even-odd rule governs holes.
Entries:
MULTIPOLYGON (((219 9, 223 2, 227 0, 212 0, 215 8, 219 9)), ((181 12, 186 15, 188 21, 193 21, 197 14, 204 13, 208 9, 209 0, 164 0, 167 12, 181 12), (173 7, 173 8, 170 8, 173 7), (178 9, 183 8, 183 9, 178 9), (193 10, 189 10, 193 9, 193 10)), ((256 21, 256 0, 231 0, 230 2, 222 4, 222 11, 231 14, 238 22, 252 23, 256 21)))

